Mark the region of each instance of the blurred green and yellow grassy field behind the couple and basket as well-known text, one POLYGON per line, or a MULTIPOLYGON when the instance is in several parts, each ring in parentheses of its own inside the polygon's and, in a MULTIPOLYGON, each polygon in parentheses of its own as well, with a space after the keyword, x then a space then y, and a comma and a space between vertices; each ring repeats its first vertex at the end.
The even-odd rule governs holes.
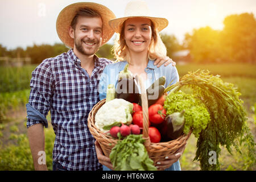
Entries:
MULTIPOLYGON (((27 139, 26 108, 30 93, 31 72, 36 65, 21 68, 0 68, 0 170, 33 170, 32 156, 27 139)), ((222 80, 232 82, 241 92, 241 99, 247 110, 248 125, 256 136, 253 106, 256 103, 256 65, 252 64, 187 64, 177 65, 180 77, 197 69, 209 70, 220 75, 222 80)), ((47 117, 49 123, 51 118, 47 117)), ((44 129, 46 134, 46 154, 48 169, 52 169, 52 147, 55 134, 52 127, 44 129)), ((199 162, 193 162, 196 152, 196 138, 191 137, 181 156, 183 170, 200 170, 199 162)), ((221 170, 256 170, 255 161, 251 161, 246 151, 233 155, 222 147, 219 158, 221 170)))

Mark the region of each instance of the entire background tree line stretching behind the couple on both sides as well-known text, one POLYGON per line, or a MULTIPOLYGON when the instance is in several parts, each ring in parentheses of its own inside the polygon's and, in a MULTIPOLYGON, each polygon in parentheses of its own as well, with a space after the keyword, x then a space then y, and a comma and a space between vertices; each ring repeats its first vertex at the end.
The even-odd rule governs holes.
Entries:
MULTIPOLYGON (((182 43, 175 35, 161 34, 167 55, 188 49, 195 63, 256 63, 256 19, 252 13, 229 15, 224 19, 223 30, 201 27, 185 34, 182 43)), ((112 44, 102 46, 96 55, 114 60, 112 44)), ((30 57, 32 64, 41 63, 68 51, 64 44, 42 44, 8 50, 0 44, 0 57, 30 57)))

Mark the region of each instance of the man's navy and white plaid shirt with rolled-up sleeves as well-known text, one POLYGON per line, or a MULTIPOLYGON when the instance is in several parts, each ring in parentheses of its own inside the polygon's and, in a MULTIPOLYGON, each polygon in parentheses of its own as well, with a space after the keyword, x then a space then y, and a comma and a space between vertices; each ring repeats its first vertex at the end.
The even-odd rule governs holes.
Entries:
MULTIPOLYGON (((67 53, 44 60, 32 72, 28 104, 44 117, 51 111, 56 135, 53 161, 68 170, 93 171, 102 167, 98 163, 95 139, 88 129, 87 118, 99 101, 97 87, 100 74, 112 62, 97 56, 94 56, 94 61, 92 76, 89 77, 70 49, 67 53)), ((27 118, 27 127, 44 123, 29 114, 27 118)))

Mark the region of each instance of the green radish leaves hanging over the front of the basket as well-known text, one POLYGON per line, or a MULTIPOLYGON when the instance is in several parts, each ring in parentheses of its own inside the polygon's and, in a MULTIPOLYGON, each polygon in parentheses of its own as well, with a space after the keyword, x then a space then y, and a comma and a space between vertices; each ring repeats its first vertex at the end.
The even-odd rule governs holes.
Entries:
POLYGON ((142 135, 128 135, 118 140, 109 155, 115 171, 156 171, 148 157, 142 135))

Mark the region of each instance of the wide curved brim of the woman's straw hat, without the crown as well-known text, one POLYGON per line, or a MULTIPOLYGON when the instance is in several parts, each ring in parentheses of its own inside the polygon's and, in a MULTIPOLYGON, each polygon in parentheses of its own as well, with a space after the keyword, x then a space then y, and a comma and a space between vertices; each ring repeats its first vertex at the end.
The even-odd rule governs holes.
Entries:
POLYGON ((123 22, 129 18, 148 18, 154 23, 155 28, 157 28, 159 32, 168 26, 168 20, 166 18, 156 18, 151 16, 127 16, 123 18, 115 18, 109 21, 109 26, 115 32, 120 34, 123 22))

